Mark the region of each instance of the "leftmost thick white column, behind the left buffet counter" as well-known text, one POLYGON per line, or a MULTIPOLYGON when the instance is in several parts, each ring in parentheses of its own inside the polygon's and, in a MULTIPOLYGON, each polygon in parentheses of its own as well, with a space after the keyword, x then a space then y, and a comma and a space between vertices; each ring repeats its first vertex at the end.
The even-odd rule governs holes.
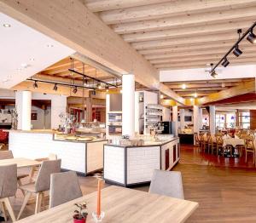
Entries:
POLYGON ((18 129, 31 129, 31 91, 17 91, 15 94, 15 106, 18 113, 18 129))

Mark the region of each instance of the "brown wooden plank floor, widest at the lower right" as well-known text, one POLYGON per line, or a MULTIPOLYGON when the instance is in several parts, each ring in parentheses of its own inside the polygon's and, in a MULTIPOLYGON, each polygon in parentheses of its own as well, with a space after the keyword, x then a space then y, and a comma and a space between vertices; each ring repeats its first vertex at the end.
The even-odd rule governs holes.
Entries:
MULTIPOLYGON (((174 170, 183 174, 185 199, 200 204, 187 222, 256 222, 256 169, 251 159, 245 163, 244 157, 202 154, 191 146, 182 146, 181 156, 174 170)), ((84 194, 96 191, 95 177, 79 180, 84 194)), ((135 189, 148 192, 148 186, 135 189)), ((11 202, 18 214, 21 193, 11 202)), ((33 210, 34 204, 26 206, 22 217, 33 210)))

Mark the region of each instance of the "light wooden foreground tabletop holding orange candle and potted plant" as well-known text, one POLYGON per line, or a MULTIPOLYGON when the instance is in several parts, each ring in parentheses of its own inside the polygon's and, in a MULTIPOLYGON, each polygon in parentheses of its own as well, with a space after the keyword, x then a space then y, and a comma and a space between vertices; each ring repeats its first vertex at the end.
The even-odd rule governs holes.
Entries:
MULTIPOLYGON (((87 223, 94 222, 91 213, 96 210, 96 192, 61 204, 53 209, 32 215, 19 223, 73 222, 74 203, 87 202, 89 215, 87 223)), ((198 203, 172 197, 148 194, 119 186, 109 186, 102 190, 102 222, 111 223, 151 223, 184 222, 197 209, 198 203)))

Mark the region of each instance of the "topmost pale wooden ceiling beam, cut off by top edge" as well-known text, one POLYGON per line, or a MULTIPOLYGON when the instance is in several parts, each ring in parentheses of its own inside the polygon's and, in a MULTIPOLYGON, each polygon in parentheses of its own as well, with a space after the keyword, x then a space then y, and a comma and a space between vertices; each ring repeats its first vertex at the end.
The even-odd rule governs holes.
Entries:
POLYGON ((170 0, 81 0, 92 12, 102 12, 113 9, 131 8, 136 6, 166 3, 170 0))

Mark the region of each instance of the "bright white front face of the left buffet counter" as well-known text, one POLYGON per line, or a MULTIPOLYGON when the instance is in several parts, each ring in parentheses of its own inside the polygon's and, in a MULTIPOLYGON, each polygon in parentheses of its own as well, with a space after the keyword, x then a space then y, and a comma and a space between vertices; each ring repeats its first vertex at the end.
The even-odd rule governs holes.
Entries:
POLYGON ((61 168, 85 173, 85 144, 53 140, 53 134, 9 133, 9 150, 14 157, 41 158, 55 153, 61 168))

